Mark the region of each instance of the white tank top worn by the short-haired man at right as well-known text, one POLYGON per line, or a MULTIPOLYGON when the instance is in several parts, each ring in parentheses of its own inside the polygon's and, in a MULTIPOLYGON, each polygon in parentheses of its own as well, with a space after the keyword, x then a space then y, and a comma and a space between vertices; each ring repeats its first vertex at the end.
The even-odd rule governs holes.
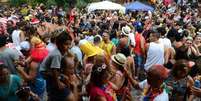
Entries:
POLYGON ((155 64, 164 64, 164 45, 162 43, 151 42, 147 52, 145 70, 147 71, 155 64))

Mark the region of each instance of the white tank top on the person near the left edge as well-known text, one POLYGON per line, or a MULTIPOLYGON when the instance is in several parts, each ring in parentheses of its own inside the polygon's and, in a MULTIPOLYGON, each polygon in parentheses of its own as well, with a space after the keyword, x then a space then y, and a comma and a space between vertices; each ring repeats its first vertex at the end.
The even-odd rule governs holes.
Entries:
POLYGON ((12 33, 12 40, 16 46, 20 46, 20 42, 21 42, 20 33, 21 33, 21 30, 14 30, 12 33))

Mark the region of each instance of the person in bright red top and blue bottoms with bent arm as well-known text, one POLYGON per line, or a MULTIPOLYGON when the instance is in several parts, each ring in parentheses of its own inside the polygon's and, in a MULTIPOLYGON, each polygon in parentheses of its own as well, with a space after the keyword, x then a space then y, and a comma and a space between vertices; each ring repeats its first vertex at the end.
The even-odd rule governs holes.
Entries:
MULTIPOLYGON (((39 73, 39 65, 43 59, 48 55, 48 50, 45 48, 44 43, 38 37, 32 37, 31 44, 33 48, 30 49, 30 56, 26 59, 28 67, 19 65, 17 71, 22 76, 24 81, 28 82, 31 90, 37 94, 41 100, 44 99, 45 80, 39 73), (27 71, 24 70, 27 68, 27 71), (28 72, 28 73, 27 73, 28 72)), ((26 44, 21 44, 25 46, 26 44)), ((25 48, 25 47, 23 47, 25 48)))

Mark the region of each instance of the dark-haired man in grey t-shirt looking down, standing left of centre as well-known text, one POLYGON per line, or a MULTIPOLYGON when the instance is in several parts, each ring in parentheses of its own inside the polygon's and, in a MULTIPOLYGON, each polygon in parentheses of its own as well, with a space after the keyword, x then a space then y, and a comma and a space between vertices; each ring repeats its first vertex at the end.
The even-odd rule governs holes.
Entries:
POLYGON ((46 79, 49 101, 64 101, 70 94, 66 85, 59 78, 61 59, 66 54, 72 43, 72 38, 65 31, 56 36, 56 48, 44 59, 40 72, 46 79))

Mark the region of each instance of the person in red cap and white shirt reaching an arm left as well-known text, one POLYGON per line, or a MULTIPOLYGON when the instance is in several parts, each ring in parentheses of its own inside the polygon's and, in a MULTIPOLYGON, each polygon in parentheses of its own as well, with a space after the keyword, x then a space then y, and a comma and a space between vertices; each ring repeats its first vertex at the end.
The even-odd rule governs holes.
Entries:
POLYGON ((147 79, 141 82, 133 79, 128 70, 124 69, 124 71, 132 86, 142 89, 143 101, 169 101, 164 81, 168 78, 170 71, 166 67, 152 65, 147 71, 147 79))

